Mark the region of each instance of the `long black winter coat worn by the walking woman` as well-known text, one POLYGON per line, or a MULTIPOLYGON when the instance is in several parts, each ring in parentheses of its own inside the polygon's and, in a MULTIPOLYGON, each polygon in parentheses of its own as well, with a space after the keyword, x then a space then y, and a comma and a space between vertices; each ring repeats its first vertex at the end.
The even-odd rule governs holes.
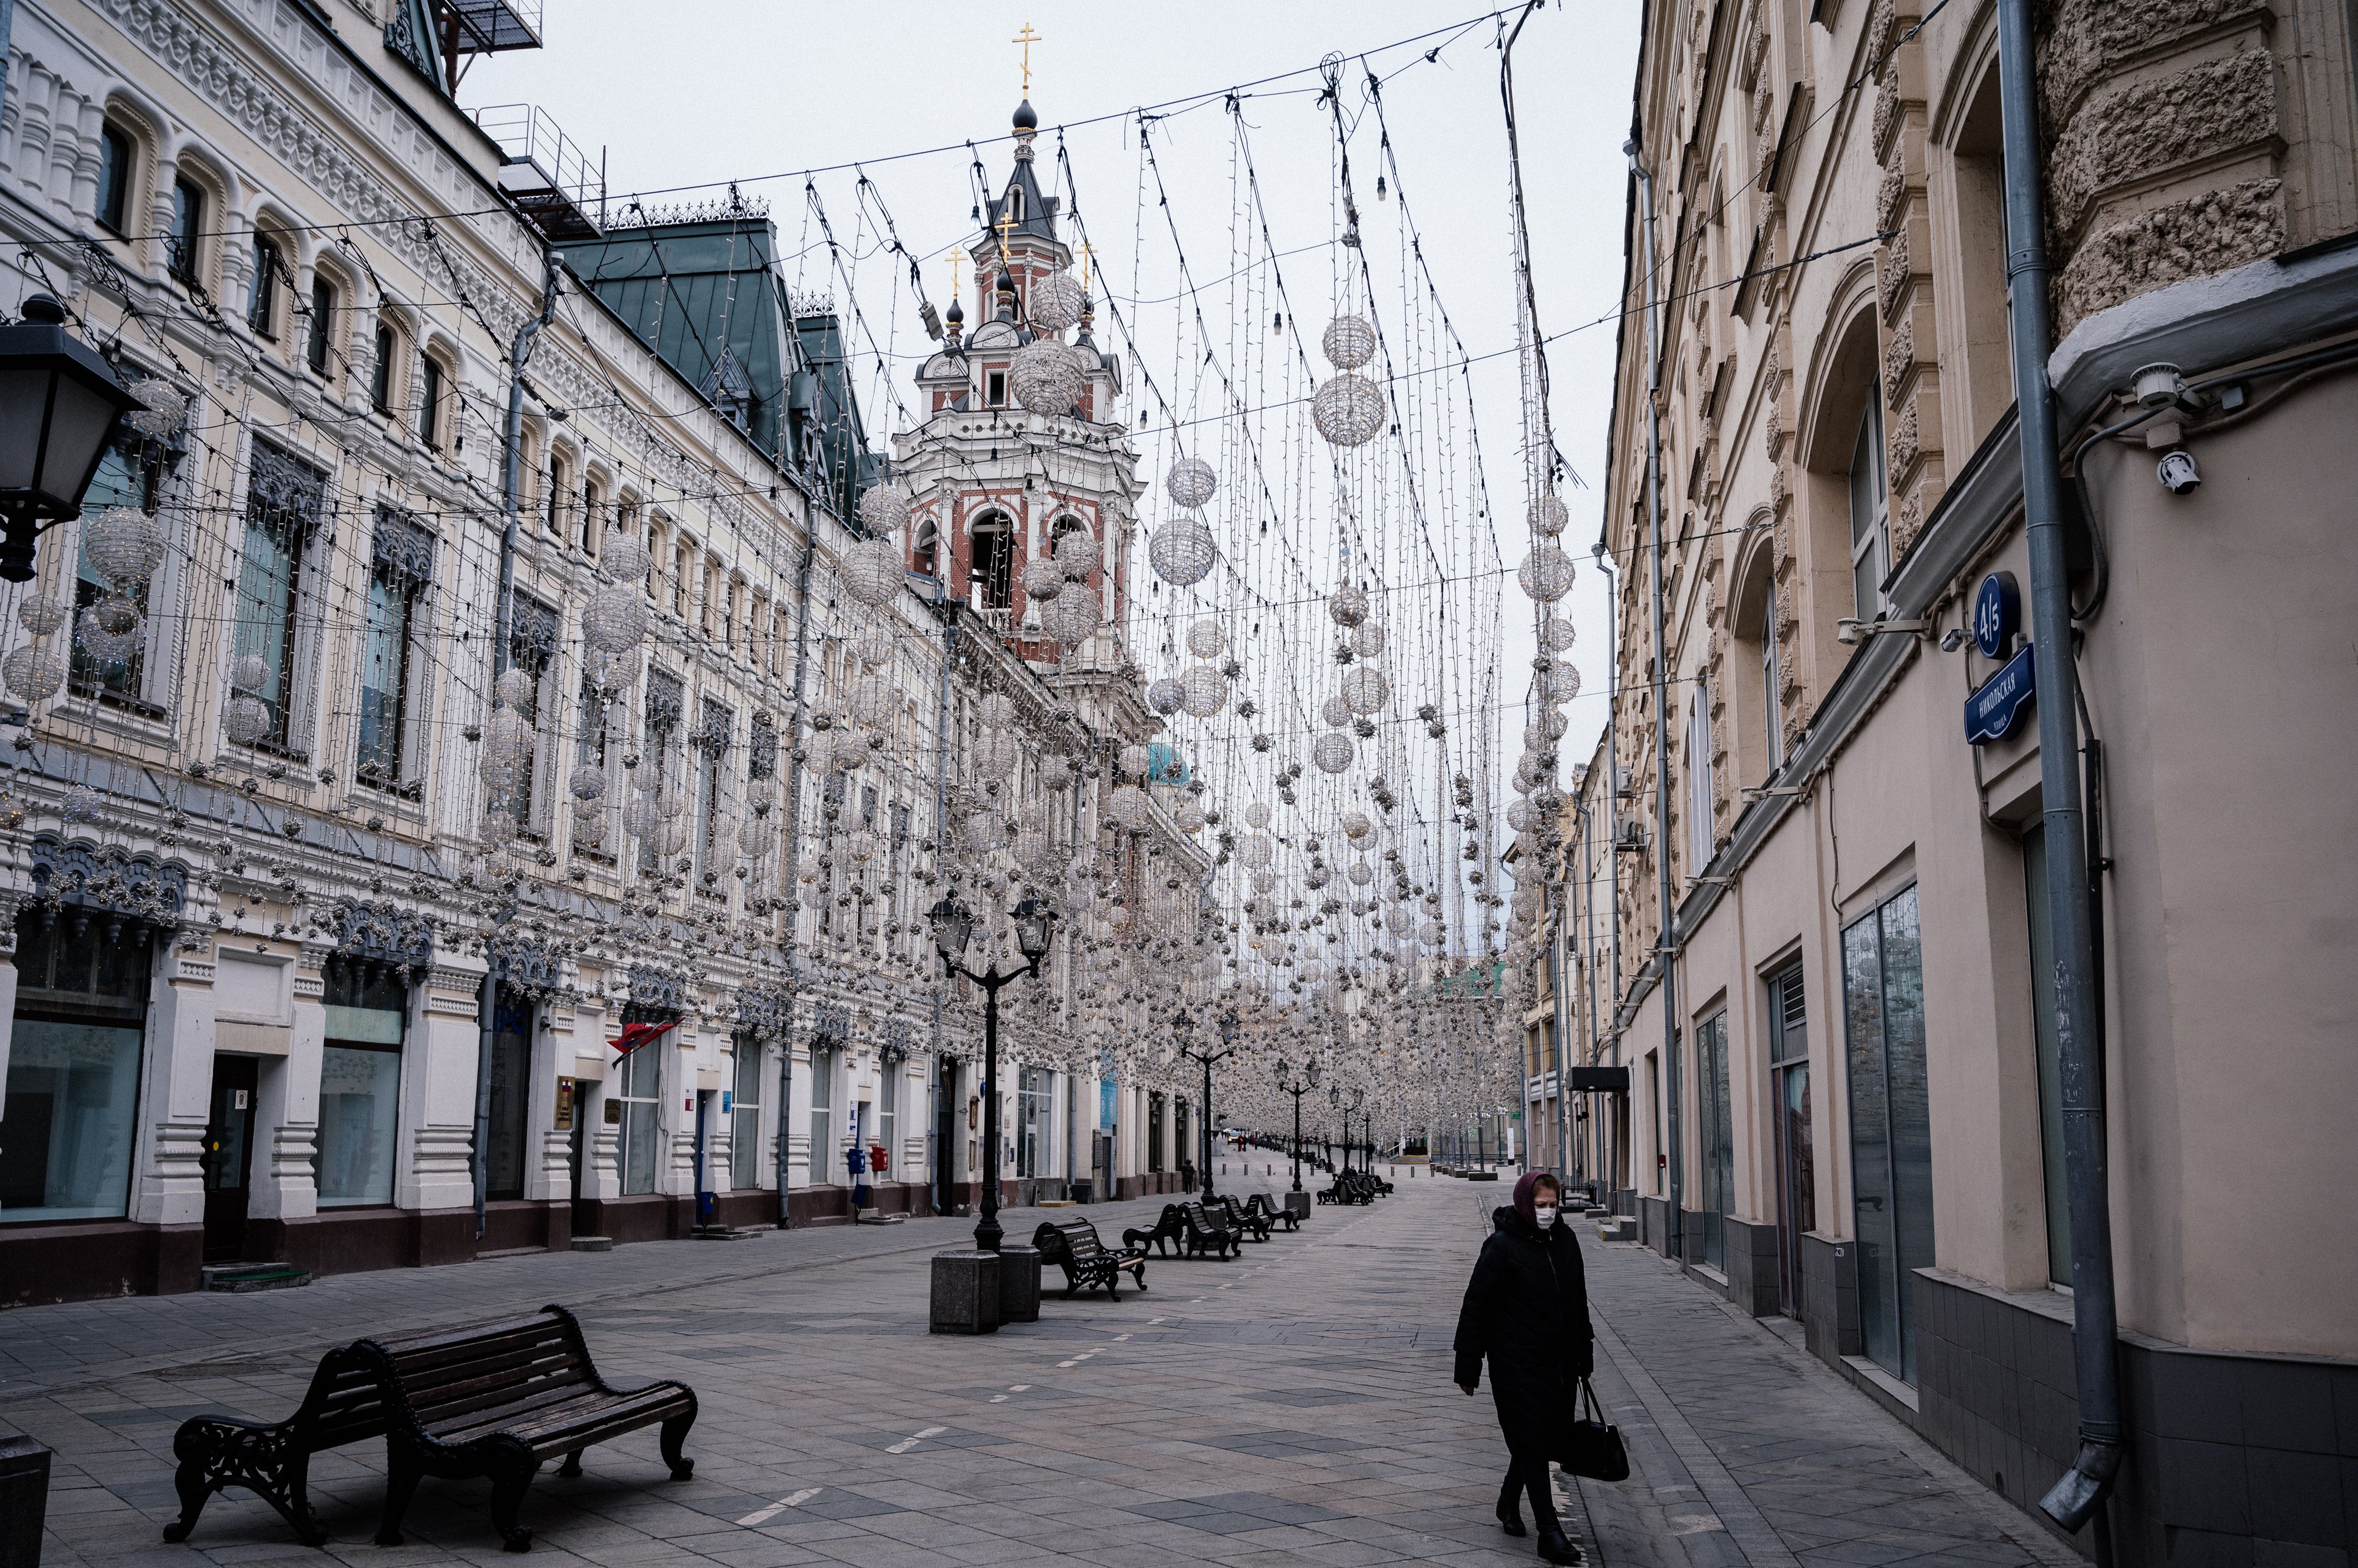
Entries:
POLYGON ((1544 1233, 1514 1207, 1493 1217, 1457 1313, 1457 1377, 1471 1389, 1490 1358, 1490 1398, 1516 1457, 1547 1455, 1573 1419, 1578 1379, 1596 1368, 1589 1285, 1566 1221, 1544 1233))

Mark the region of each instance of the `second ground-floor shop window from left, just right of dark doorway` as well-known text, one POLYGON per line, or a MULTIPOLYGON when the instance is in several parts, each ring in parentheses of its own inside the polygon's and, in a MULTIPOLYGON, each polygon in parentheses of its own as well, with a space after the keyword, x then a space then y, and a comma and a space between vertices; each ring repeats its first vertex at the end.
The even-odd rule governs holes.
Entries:
POLYGON ((318 1066, 318 1207, 394 1200, 401 1120, 401 1042, 410 988, 399 971, 335 960, 325 974, 328 1040, 318 1066))

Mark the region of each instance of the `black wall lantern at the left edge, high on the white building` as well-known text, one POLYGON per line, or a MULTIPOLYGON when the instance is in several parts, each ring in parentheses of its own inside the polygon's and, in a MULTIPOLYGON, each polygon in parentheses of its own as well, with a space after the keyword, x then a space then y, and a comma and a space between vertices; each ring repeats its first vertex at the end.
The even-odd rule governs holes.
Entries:
POLYGON ((24 302, 24 321, 0 328, 0 578, 33 580, 38 523, 83 514, 125 408, 139 408, 90 344, 66 330, 50 295, 24 302))

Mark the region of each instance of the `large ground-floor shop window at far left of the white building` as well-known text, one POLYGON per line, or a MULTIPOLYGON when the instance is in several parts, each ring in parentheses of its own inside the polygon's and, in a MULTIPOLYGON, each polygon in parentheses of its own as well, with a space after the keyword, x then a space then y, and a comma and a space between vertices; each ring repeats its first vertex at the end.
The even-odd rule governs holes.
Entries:
POLYGON ((149 934, 116 917, 17 917, 0 1221, 127 1212, 151 964, 149 934))

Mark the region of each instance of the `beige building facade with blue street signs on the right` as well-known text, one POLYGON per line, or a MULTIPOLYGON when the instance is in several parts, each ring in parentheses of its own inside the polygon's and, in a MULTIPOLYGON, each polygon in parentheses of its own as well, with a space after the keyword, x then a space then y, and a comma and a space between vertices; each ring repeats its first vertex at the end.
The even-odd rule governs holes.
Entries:
MULTIPOLYGON (((2341 5, 2037 7, 2134 1561, 2358 1526, 2351 50, 2341 5)), ((1570 1054, 1629 1087, 1582 1158, 2035 1511, 2077 1394, 1997 9, 1651 7, 1634 123, 1556 901, 1570 1054)))

